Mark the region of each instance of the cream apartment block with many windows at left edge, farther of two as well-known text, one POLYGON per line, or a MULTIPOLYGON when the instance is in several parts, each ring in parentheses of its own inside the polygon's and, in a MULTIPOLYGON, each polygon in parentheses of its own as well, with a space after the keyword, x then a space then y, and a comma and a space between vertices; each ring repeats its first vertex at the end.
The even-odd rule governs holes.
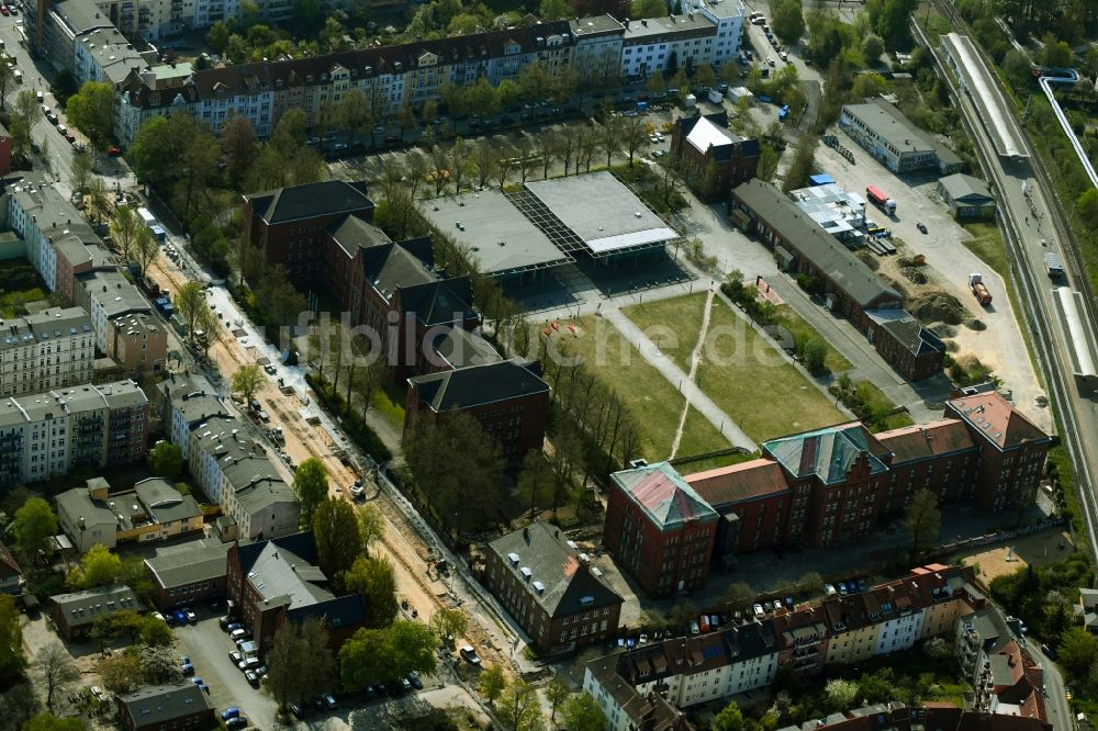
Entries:
POLYGON ((91 318, 81 307, 0 318, 0 396, 19 396, 91 381, 91 318))

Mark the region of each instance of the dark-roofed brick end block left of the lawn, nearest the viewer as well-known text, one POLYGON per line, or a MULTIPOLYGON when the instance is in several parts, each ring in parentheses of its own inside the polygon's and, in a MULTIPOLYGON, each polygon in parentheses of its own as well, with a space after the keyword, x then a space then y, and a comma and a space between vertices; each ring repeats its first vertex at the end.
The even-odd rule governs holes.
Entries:
POLYGON ((500 440, 508 460, 540 450, 549 417, 549 384, 537 363, 501 360, 408 379, 404 430, 418 418, 464 412, 500 440))

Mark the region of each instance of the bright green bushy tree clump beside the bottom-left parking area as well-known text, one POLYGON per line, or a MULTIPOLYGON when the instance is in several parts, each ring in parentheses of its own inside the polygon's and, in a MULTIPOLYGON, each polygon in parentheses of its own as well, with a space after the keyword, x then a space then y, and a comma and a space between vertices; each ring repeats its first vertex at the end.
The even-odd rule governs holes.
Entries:
POLYGON ((399 619, 384 629, 360 629, 339 650, 344 688, 357 691, 378 679, 434 673, 438 638, 423 622, 399 619))

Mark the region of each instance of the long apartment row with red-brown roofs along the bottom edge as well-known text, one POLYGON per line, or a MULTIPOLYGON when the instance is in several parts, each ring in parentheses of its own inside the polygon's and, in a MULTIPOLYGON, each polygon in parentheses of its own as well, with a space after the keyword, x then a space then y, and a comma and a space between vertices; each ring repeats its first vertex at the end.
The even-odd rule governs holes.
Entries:
MULTIPOLYGON (((639 709, 665 701, 668 718, 680 709, 766 688, 781 668, 818 675, 829 664, 854 664, 910 650, 929 637, 949 636, 982 616, 985 599, 971 570, 930 564, 885 584, 822 601, 721 619, 710 631, 666 637, 586 664, 583 690, 606 715, 608 728, 643 728, 639 709), (935 608, 949 621, 930 623, 935 608), (976 614, 973 614, 976 612, 976 614)), ((963 632, 968 637, 966 632, 963 632)), ((1009 633, 1007 633, 1009 634, 1009 633)), ((999 636, 989 648, 1005 646, 999 636), (995 644, 998 642, 999 644, 995 644)))

